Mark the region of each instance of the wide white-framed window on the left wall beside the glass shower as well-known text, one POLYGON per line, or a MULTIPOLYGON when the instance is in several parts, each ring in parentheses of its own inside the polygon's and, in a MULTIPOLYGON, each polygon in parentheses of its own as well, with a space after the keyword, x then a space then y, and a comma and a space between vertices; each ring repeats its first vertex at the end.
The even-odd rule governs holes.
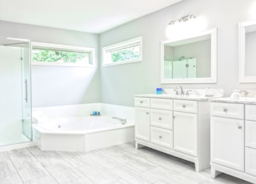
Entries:
POLYGON ((32 64, 94 66, 94 48, 32 42, 32 64))

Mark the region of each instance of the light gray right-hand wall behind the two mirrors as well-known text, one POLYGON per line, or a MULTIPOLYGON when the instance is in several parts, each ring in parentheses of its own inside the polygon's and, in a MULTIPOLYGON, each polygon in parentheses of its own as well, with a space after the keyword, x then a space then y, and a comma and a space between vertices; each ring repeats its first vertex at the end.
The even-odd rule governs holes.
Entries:
POLYGON ((160 42, 167 39, 167 24, 186 14, 205 18, 206 30, 218 28, 218 82, 182 86, 220 88, 225 95, 234 89, 255 89, 255 83, 238 83, 238 22, 252 19, 253 7, 254 0, 184 0, 100 34, 101 47, 138 36, 143 38, 142 62, 102 67, 102 102, 134 106, 134 94, 155 93, 159 86, 179 86, 160 84, 160 42))

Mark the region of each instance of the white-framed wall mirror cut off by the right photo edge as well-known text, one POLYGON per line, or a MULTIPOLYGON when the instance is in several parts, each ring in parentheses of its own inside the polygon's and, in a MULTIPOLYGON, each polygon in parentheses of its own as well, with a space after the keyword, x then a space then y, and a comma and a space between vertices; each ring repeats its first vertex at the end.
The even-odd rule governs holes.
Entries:
POLYGON ((238 24, 239 82, 256 82, 256 20, 238 24))

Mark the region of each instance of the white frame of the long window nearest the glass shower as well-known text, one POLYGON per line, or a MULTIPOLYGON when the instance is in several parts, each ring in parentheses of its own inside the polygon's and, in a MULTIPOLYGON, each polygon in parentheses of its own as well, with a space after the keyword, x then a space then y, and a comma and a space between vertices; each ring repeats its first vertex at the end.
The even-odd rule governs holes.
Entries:
POLYGON ((74 67, 87 67, 94 68, 95 67, 95 49, 93 47, 83 47, 83 46, 69 46, 69 45, 61 45, 54 43, 46 43, 46 42, 31 42, 31 65, 38 66, 74 66, 74 67), (52 49, 52 50, 63 50, 70 52, 87 52, 90 53, 90 62, 92 64, 77 64, 77 63, 65 63, 65 62, 33 62, 33 49, 52 49))

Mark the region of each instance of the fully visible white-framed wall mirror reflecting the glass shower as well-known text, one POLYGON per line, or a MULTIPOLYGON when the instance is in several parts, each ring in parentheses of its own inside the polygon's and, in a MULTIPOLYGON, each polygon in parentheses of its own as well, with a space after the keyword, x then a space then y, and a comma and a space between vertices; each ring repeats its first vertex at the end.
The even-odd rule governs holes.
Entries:
POLYGON ((217 29, 161 42, 161 83, 217 82, 217 29))

